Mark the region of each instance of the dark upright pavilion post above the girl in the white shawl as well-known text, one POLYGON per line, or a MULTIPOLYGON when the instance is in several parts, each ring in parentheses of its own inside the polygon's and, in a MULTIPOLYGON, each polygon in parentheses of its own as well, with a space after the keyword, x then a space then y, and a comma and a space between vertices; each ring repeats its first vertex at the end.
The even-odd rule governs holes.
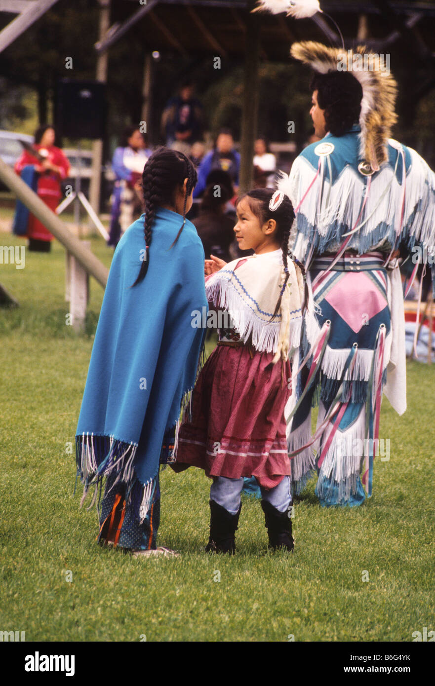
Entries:
MULTIPOLYGON (((248 10, 255 8, 255 0, 248 0, 248 10)), ((254 141, 257 135, 259 104, 259 34, 257 14, 248 14, 245 34, 245 64, 242 106, 242 140, 240 143, 239 193, 252 188, 254 171, 254 141)))

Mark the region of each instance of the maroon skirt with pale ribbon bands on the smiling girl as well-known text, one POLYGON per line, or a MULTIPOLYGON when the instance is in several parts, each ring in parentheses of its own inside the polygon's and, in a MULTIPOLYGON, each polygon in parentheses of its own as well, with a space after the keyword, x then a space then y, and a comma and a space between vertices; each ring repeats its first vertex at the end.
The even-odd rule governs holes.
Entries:
POLYGON ((255 476, 272 488, 290 475, 284 407, 291 393, 290 362, 273 353, 218 345, 191 398, 191 421, 178 433, 173 467, 193 465, 209 477, 255 476))

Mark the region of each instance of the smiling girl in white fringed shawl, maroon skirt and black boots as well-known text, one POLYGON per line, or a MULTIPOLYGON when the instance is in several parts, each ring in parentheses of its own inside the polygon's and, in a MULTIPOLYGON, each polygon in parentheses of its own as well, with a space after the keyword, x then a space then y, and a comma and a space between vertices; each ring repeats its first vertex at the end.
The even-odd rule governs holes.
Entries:
POLYGON ((239 248, 255 255, 206 260, 207 299, 228 321, 221 317, 219 342, 193 390, 173 467, 195 465, 213 479, 208 552, 235 552, 243 477, 250 476, 261 489, 269 546, 294 546, 284 407, 305 287, 301 269, 287 259, 293 219, 284 193, 250 191, 239 199, 234 230, 239 248))

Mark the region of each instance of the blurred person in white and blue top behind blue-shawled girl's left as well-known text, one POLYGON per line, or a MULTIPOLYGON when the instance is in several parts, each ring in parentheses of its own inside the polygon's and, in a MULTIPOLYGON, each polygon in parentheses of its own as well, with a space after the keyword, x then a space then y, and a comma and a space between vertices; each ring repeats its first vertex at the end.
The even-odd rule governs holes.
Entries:
POLYGON ((117 246, 121 235, 142 213, 141 178, 143 167, 152 151, 135 126, 124 131, 124 140, 113 154, 112 168, 116 176, 113 188, 112 213, 108 246, 117 246))

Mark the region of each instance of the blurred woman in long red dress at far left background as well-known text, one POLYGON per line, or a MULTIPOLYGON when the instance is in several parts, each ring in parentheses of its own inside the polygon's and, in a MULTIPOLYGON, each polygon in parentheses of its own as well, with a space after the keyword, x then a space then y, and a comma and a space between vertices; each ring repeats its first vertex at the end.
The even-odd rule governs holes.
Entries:
MULTIPOLYGON (((16 174, 21 174, 27 165, 34 167, 38 174, 36 192, 53 211, 56 210, 62 198, 60 181, 67 178, 69 174, 69 161, 62 150, 54 145, 55 139, 56 132, 52 126, 40 126, 36 130, 32 146, 38 154, 25 150, 14 167, 16 174)), ((49 252, 51 249, 53 235, 32 214, 29 214, 25 235, 29 239, 29 250, 49 252)))

